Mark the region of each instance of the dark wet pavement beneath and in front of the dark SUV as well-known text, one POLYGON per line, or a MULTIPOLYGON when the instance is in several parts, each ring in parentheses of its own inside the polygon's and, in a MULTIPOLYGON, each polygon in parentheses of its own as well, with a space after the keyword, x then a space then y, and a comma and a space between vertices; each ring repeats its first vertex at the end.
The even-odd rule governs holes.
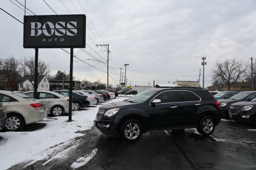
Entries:
POLYGON ((39 160, 23 169, 73 169, 70 166, 78 158, 95 148, 95 156, 76 169, 256 169, 255 127, 233 121, 222 120, 211 137, 195 129, 148 132, 135 143, 106 137, 96 128, 77 133, 84 135, 75 139, 77 147, 65 156, 47 159, 47 164, 39 160))

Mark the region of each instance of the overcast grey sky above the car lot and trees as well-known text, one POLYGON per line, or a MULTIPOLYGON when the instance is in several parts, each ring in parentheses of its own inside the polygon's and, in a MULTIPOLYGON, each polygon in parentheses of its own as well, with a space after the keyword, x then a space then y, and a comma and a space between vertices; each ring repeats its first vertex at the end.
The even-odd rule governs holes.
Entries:
MULTIPOLYGON (((17 3, 14 0, 11 0, 17 3)), ((24 11, 9 0, 1 7, 23 21, 24 11)), ((24 3, 23 0, 18 0, 24 3)), ((85 50, 103 61, 105 48, 95 44, 110 44, 109 82, 119 84, 118 68, 127 66, 127 79, 132 85, 167 84, 176 80, 196 81, 201 58, 206 57, 205 85, 211 85, 214 63, 227 58, 249 62, 256 53, 256 1, 84 1, 45 0, 58 14, 87 16, 85 50), (90 22, 91 21, 91 22, 90 22), (94 29, 95 28, 95 29, 94 29), (97 31, 95 31, 97 30, 97 31), (103 57, 103 58, 102 58, 103 57)), ((17 3, 18 4, 18 3, 17 3)), ((42 0, 27 0, 27 7, 37 15, 54 14, 42 0)), ((0 11, 0 58, 34 56, 34 49, 23 48, 23 25, 0 11)), ((69 50, 69 49, 67 49, 69 50)), ((81 49, 74 55, 92 59, 81 49)), ((69 54, 61 49, 39 49, 39 60, 49 63, 51 73, 69 72, 69 54)), ((86 61, 107 71, 104 63, 86 61)), ((106 62, 106 61, 105 61, 106 62)), ((202 75, 201 70, 201 75, 202 75)), ((74 59, 77 80, 107 82, 107 74, 74 59)), ((122 70, 124 72, 124 70, 122 70)), ((202 76, 201 76, 202 86, 202 76)))

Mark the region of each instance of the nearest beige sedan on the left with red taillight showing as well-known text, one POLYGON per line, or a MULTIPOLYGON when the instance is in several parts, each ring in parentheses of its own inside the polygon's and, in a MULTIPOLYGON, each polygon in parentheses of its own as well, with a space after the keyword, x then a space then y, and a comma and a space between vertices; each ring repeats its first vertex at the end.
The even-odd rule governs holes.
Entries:
POLYGON ((0 91, 0 102, 7 115, 5 129, 20 131, 27 124, 38 122, 47 117, 45 103, 18 92, 0 91))

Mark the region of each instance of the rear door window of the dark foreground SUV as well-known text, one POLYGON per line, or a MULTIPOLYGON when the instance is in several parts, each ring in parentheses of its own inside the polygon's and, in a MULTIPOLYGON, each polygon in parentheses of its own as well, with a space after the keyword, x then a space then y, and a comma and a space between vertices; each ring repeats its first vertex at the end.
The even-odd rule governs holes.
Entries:
POLYGON ((199 101, 200 98, 190 91, 175 91, 175 101, 199 101))

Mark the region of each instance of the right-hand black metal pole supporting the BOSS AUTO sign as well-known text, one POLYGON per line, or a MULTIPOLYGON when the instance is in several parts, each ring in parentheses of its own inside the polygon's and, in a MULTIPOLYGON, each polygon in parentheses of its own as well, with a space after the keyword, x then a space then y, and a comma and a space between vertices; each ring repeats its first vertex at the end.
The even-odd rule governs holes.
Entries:
POLYGON ((70 48, 70 71, 69 71, 69 111, 68 121, 72 121, 72 90, 73 90, 73 48, 70 48))

